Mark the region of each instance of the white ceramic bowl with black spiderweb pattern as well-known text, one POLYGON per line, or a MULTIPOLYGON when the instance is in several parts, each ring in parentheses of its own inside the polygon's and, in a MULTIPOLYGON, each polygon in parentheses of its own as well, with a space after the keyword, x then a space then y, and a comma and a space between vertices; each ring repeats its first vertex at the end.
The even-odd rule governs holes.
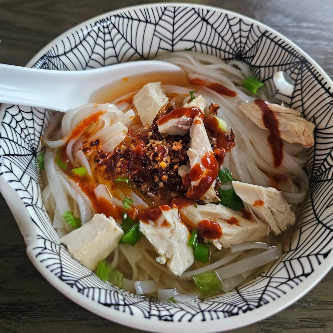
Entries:
POLYGON ((302 50, 276 31, 242 15, 190 4, 120 9, 70 29, 28 64, 82 70, 150 59, 184 49, 242 59, 275 94, 277 70, 296 82, 287 104, 316 124, 308 150, 309 193, 282 257, 251 283, 195 304, 171 304, 103 283, 71 258, 51 226, 40 194, 36 157, 54 112, 3 105, 0 111, 0 186, 37 269, 57 289, 90 311, 118 323, 159 332, 213 332, 259 321, 308 292, 333 263, 333 83, 302 50), (175 25, 173 25, 175 22, 175 25))

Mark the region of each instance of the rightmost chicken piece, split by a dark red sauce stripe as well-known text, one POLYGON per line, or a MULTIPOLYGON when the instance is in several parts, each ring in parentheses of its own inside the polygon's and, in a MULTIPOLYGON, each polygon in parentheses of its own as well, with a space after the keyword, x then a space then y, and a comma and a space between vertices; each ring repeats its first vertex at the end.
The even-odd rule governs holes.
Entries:
MULTIPOLYGON (((313 123, 304 119, 296 110, 285 108, 277 104, 267 102, 266 104, 273 112, 279 124, 281 139, 291 144, 299 143, 305 148, 314 145, 313 130, 315 126, 313 123)), ((267 130, 262 118, 262 111, 256 103, 240 104, 239 109, 257 126, 263 130, 267 130)))

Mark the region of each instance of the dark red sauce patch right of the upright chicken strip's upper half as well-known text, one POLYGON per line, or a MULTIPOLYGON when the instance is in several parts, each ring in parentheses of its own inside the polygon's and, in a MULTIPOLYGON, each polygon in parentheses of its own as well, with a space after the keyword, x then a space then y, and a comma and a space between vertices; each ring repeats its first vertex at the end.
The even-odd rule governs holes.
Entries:
POLYGON ((223 163, 225 153, 230 152, 231 148, 235 146, 235 135, 230 132, 230 134, 225 133, 221 129, 218 128, 218 120, 216 117, 207 117, 203 120, 203 124, 205 125, 206 130, 210 132, 210 134, 216 138, 216 146, 213 150, 215 158, 219 161, 219 163, 223 163))

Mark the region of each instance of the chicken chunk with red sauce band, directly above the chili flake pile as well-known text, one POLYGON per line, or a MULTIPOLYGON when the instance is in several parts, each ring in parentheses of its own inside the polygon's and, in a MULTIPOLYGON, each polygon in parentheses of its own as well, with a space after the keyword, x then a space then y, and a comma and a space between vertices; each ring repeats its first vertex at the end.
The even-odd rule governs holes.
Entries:
MULTIPOLYGON (((206 107, 205 99, 199 95, 190 103, 184 104, 185 108, 198 108, 202 114, 206 107)), ((186 109, 182 109, 184 114, 179 115, 179 110, 174 109, 165 116, 161 117, 157 122, 160 133, 166 133, 169 135, 185 135, 189 132, 192 122, 193 115, 187 114, 186 109)))

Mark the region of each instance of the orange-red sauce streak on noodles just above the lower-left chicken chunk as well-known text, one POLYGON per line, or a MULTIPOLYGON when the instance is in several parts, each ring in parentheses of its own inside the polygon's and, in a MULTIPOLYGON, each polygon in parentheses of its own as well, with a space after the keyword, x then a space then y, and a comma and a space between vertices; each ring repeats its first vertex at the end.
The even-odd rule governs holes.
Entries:
POLYGON ((78 181, 77 184, 90 199, 96 213, 105 214, 107 217, 112 216, 115 220, 121 221, 123 210, 106 198, 98 197, 94 191, 94 185, 88 181, 78 181))

